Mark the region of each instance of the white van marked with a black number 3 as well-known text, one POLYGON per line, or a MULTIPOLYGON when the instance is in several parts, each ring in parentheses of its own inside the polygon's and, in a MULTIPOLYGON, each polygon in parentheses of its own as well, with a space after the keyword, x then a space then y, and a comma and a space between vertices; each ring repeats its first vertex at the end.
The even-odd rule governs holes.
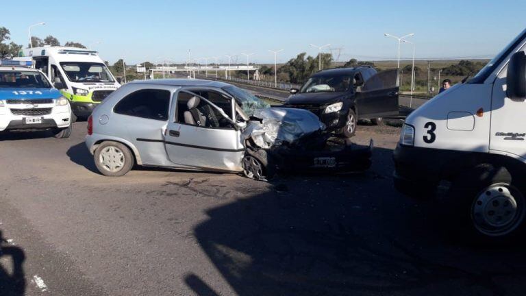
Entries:
POLYGON ((525 50, 526 30, 473 78, 412 112, 394 153, 398 190, 446 189, 444 222, 484 240, 525 226, 525 50))

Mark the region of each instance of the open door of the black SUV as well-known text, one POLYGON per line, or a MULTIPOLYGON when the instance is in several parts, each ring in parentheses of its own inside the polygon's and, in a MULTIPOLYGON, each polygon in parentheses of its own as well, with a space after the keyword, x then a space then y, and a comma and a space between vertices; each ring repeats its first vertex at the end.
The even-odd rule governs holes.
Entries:
POLYGON ((399 114, 398 70, 382 71, 367 79, 356 93, 359 119, 373 119, 399 114))

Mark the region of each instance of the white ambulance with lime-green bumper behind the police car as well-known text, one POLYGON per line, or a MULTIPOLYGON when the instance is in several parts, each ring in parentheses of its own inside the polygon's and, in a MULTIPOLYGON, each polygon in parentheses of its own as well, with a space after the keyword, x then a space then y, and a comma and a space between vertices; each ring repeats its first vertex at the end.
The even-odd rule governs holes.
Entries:
POLYGON ((98 103, 121 86, 97 51, 45 46, 23 49, 22 56, 33 58, 36 69, 70 100, 77 116, 89 116, 98 103))

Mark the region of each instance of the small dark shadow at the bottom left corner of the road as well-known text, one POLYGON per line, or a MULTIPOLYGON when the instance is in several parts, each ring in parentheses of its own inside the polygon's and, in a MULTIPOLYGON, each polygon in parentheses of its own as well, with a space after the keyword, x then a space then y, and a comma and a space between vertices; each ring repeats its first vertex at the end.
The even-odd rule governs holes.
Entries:
POLYGON ((0 295, 25 295, 25 275, 23 249, 8 245, 0 231, 0 295))

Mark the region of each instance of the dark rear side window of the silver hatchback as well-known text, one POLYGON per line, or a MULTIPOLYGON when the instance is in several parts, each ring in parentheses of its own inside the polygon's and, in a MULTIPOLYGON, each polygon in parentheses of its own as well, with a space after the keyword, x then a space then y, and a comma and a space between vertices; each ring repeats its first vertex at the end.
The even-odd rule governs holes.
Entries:
POLYGON ((121 99, 113 111, 118 114, 167 121, 169 106, 170 91, 145 89, 121 99))

